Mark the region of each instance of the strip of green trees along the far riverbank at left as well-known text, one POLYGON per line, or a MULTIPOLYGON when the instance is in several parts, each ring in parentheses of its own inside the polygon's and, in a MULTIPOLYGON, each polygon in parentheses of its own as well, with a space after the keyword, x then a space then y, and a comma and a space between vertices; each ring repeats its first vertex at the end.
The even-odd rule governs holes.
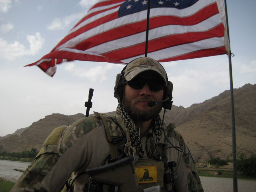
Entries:
POLYGON ((0 152, 1 160, 11 160, 11 161, 24 161, 24 162, 32 162, 33 159, 38 154, 36 148, 32 148, 31 151, 22 151, 22 152, 0 152))

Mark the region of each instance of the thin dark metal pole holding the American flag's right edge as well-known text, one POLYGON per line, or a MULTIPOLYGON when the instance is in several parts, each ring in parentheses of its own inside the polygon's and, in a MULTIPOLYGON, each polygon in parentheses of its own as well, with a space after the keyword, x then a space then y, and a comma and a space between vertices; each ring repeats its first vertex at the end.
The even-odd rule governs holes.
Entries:
MULTIPOLYGON (((225 12, 226 12, 228 40, 230 42, 229 28, 228 28, 228 10, 227 10, 227 2, 226 2, 226 0, 224 0, 224 3, 225 3, 225 12)), ((230 54, 228 55, 228 63, 229 63, 231 119, 232 119, 231 121, 232 121, 233 191, 234 192, 238 192, 237 164, 236 164, 236 126, 235 126, 235 110, 234 110, 234 93, 233 93, 231 50, 230 50, 230 54)))

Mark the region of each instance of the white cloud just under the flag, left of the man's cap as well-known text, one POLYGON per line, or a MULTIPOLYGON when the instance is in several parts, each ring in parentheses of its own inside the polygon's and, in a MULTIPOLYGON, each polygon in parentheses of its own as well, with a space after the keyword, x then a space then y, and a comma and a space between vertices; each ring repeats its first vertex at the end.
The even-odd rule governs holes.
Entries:
POLYGON ((82 68, 76 67, 75 64, 71 62, 65 66, 65 71, 69 71, 74 76, 77 76, 77 77, 87 78, 92 82, 96 82, 96 80, 102 82, 107 80, 106 73, 108 70, 112 69, 114 66, 116 66, 116 64, 108 63, 104 67, 96 66, 90 69, 82 69, 82 68))

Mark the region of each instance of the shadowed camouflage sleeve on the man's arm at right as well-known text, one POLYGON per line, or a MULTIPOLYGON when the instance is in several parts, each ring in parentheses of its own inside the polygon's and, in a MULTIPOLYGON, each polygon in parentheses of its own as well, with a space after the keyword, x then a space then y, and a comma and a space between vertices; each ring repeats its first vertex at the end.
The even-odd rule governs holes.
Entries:
MULTIPOLYGON (((180 177, 182 177, 183 180, 182 181, 179 180, 178 185, 184 185, 185 183, 187 183, 188 186, 186 187, 187 188, 186 191, 203 192, 203 187, 202 187, 200 178, 197 174, 195 161, 194 161, 183 137, 174 128, 172 128, 170 131, 168 131, 168 137, 174 137, 174 139, 176 141, 178 141, 179 147, 181 147, 184 150, 184 152, 182 152, 182 153, 179 152, 179 154, 180 154, 179 158, 178 158, 179 162, 177 162, 177 163, 181 164, 181 165, 177 165, 177 166, 184 167, 184 168, 179 168, 179 171, 182 170, 180 172, 183 175, 180 177)), ((177 173, 177 174, 180 174, 180 173, 177 173)), ((185 191, 184 188, 182 190, 185 191)))

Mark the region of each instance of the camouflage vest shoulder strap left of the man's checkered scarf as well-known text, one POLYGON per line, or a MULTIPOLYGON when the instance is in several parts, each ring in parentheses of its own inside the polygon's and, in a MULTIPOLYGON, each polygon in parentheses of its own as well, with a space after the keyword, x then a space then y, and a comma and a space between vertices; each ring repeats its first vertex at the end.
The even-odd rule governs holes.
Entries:
POLYGON ((108 143, 110 146, 111 158, 118 156, 118 147, 125 141, 121 133, 121 127, 109 115, 94 112, 94 114, 102 119, 105 127, 106 135, 108 137, 108 143))

